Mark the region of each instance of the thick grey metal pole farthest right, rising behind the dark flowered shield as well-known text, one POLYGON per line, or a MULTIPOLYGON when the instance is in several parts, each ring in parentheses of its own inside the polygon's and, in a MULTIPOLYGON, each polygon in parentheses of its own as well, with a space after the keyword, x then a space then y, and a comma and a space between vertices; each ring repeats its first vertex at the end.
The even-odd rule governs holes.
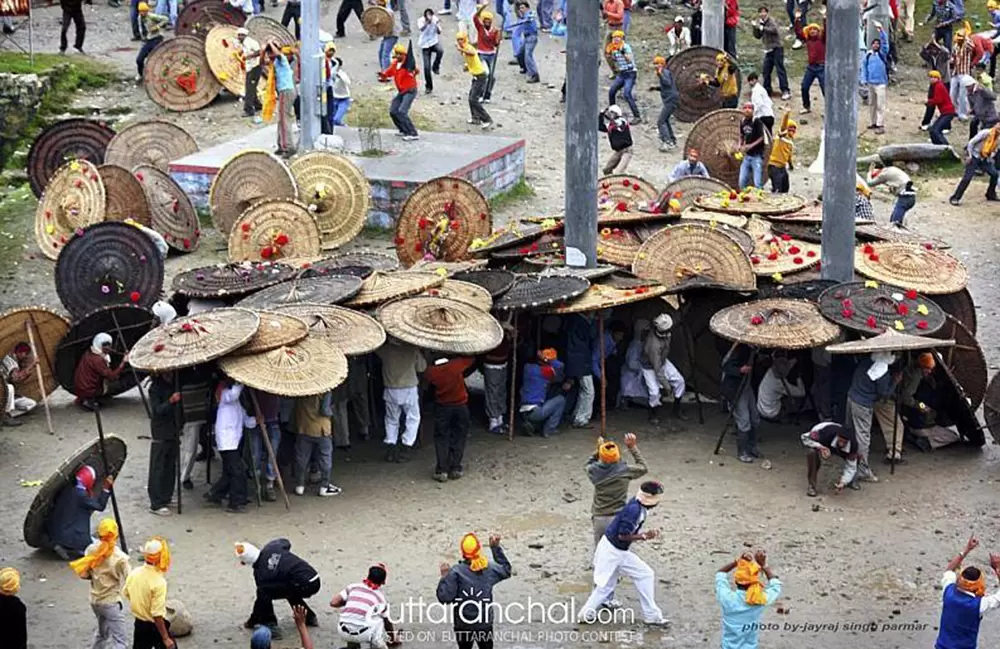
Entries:
POLYGON ((838 282, 854 279, 858 11, 857 0, 827 2, 822 276, 838 282))

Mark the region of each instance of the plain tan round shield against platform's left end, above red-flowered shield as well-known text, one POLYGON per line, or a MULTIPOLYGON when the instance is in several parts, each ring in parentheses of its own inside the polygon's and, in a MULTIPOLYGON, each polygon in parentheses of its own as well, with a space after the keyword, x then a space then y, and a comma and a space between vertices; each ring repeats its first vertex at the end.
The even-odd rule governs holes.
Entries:
POLYGON ((208 192, 212 223, 228 237, 233 224, 255 203, 263 200, 294 200, 295 178, 280 158, 267 151, 237 153, 219 169, 208 192))

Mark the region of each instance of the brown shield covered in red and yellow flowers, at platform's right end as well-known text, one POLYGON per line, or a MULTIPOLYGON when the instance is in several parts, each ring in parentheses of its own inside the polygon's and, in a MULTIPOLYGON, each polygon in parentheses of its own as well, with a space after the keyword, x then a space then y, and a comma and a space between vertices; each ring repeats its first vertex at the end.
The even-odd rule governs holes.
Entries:
POLYGON ((427 256, 461 261, 474 239, 490 236, 493 224, 486 197, 461 178, 435 178, 403 203, 396 221, 396 255, 406 268, 427 256))

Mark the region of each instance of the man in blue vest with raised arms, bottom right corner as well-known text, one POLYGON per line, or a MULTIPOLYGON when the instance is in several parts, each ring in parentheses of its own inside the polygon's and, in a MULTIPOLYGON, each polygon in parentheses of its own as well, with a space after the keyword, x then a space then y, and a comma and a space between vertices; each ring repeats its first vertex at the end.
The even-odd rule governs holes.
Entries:
MULTIPOLYGON (((1000 609, 1000 591, 986 594, 986 575, 979 568, 969 566, 961 574, 955 572, 977 547, 979 540, 970 536, 965 549, 948 562, 941 578, 941 622, 934 645, 937 649, 976 649, 982 617, 1000 609)), ((1000 578, 1000 554, 990 555, 990 567, 1000 578)))

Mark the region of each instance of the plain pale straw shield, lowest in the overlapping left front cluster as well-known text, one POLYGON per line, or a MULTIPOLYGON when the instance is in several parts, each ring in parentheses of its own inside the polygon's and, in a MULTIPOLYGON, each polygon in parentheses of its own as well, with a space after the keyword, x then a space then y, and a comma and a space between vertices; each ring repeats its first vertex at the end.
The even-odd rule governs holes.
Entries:
POLYGON ((258 354, 227 356, 219 369, 234 381, 282 397, 329 392, 347 379, 347 357, 332 342, 305 338, 258 354))

